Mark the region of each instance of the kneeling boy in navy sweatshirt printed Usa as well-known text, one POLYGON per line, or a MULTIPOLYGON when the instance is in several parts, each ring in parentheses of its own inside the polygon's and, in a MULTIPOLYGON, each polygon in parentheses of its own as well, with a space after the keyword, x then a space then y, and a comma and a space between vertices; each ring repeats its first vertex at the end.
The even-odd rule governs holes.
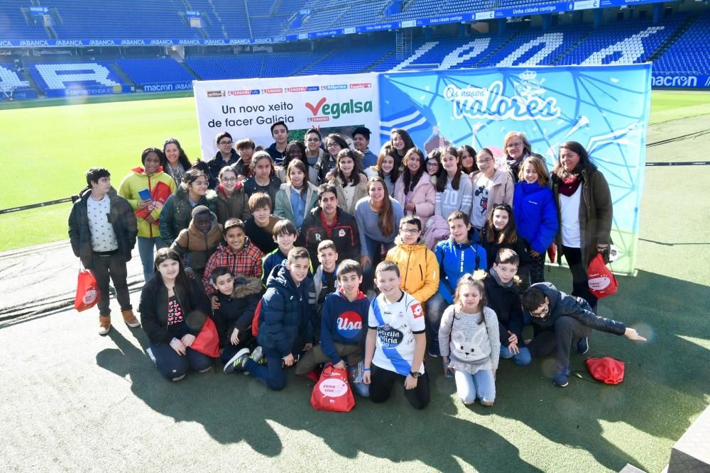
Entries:
POLYGON ((340 289, 328 294, 323 303, 320 345, 305 352, 296 365, 296 374, 305 375, 320 363, 332 362, 336 368, 347 367, 354 391, 367 397, 368 386, 355 379, 357 365, 364 356, 366 328, 363 322, 370 306, 370 301, 359 289, 362 284, 360 264, 344 260, 338 267, 337 277, 340 289))

